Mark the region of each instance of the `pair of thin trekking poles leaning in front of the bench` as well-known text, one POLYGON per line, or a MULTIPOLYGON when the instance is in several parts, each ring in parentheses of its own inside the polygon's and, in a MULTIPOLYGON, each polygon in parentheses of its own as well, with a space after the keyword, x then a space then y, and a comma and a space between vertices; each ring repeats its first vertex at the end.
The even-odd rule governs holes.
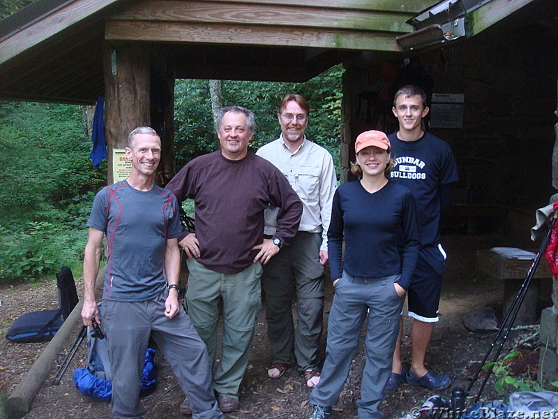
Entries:
MULTIPOLYGON (((521 284, 521 287, 520 287, 518 293, 515 295, 515 298, 513 299, 513 302, 511 303, 511 306, 509 307, 508 311, 506 312, 506 315, 504 316, 504 320, 502 321, 502 325, 498 329, 497 334, 496 334, 494 340, 492 341, 492 344, 490 344, 490 347, 488 348, 488 351, 485 353, 484 358, 481 361, 481 365, 479 365, 471 383, 469 383, 469 387, 467 387, 467 395, 469 395, 469 392, 471 391, 471 388, 473 387, 473 385, 474 385, 475 381, 477 380, 479 374, 481 374, 481 371, 482 371, 482 369, 485 365, 486 360, 488 360, 488 356, 490 355, 490 353, 492 352, 492 349, 497 344, 497 341, 498 341, 499 337, 502 335, 502 332, 504 331, 504 329, 506 328, 506 325, 507 325, 506 333, 504 334, 504 337, 502 338, 502 341, 499 344, 497 353, 496 353, 494 359, 492 360, 492 362, 496 362, 498 360, 498 357, 499 357, 500 353, 502 353, 502 348, 504 348, 504 343, 508 339, 508 336, 511 332, 511 329, 513 328, 513 322, 515 322, 515 318, 517 318, 517 316, 518 316, 518 312, 519 312, 519 309, 521 307, 521 304, 522 304, 523 300, 525 300, 525 295, 527 295, 527 291, 529 289, 529 284, 531 284, 531 279, 534 276, 536 268, 538 267, 538 263, 541 261, 541 258, 543 256, 545 250, 546 250, 546 247, 548 246, 548 241, 550 240, 550 235, 552 234, 552 229, 556 228, 557 219, 554 218, 554 213, 552 213, 552 214, 550 214, 550 216, 548 216, 547 223, 548 223, 548 231, 547 231, 545 237, 543 237, 543 240, 541 242, 541 246, 538 248, 538 253, 536 253, 536 256, 533 260, 533 263, 531 264, 531 267, 529 267, 529 271, 527 272, 527 276, 525 277, 525 280, 521 284)), ((488 378, 490 377, 490 374, 492 374, 492 369, 493 368, 494 368, 494 364, 492 364, 490 366, 490 369, 488 369, 488 372, 485 375, 483 383, 481 384, 481 388, 479 388, 478 392, 476 393, 476 397, 474 399, 474 404, 478 403, 478 399, 481 398, 481 394, 482 394, 482 392, 483 392, 483 390, 486 386, 486 383, 488 382, 488 378)))

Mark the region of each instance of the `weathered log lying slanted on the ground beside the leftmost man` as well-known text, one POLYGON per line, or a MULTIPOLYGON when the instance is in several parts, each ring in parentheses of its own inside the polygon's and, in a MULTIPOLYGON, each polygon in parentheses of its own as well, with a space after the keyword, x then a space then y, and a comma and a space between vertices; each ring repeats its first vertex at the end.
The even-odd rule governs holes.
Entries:
MULTIPOLYGON (((96 294, 103 286, 104 279, 105 268, 103 267, 103 269, 99 270, 95 281, 96 294)), ((24 375, 22 381, 20 381, 6 400, 6 414, 9 419, 23 418, 31 410, 33 399, 35 399, 38 391, 54 368, 56 356, 62 351, 75 325, 82 320, 82 306, 83 300, 80 300, 49 342, 45 351, 40 354, 33 367, 24 375)))

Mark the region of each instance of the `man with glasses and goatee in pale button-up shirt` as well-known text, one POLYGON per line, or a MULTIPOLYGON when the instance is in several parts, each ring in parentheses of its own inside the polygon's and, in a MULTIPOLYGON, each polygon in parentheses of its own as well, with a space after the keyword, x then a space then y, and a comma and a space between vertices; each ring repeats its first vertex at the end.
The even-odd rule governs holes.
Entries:
MULTIPOLYGON (((273 353, 270 378, 296 364, 308 387, 319 381, 319 340, 324 314, 324 265, 327 229, 337 187, 331 154, 304 135, 310 108, 303 96, 287 94, 279 106, 281 135, 256 154, 271 161, 289 180, 303 203, 299 231, 289 247, 264 265, 262 287, 268 337, 273 353), (291 302, 296 293, 296 332, 291 302)), ((266 237, 276 231, 277 208, 265 212, 266 237)))

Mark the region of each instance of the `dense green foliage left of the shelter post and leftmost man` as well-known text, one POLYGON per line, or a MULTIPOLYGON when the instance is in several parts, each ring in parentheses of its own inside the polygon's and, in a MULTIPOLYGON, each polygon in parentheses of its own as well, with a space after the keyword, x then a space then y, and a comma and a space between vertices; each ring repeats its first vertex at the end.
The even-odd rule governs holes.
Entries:
POLYGON ((78 106, 0 103, 0 281, 38 279, 65 264, 80 272, 86 219, 104 170, 78 106), (5 159, 5 160, 4 160, 5 159))

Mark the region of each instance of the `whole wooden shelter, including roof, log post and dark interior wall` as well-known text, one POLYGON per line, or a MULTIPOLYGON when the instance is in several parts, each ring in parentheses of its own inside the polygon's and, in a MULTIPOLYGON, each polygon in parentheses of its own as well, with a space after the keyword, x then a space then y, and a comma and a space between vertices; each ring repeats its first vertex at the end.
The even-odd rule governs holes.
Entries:
MULTIPOLYGON (((344 182, 354 138, 379 124, 371 87, 383 66, 418 57, 443 93, 467 98, 462 126, 439 136, 458 158, 464 214, 492 220, 479 185, 486 200, 516 206, 550 189, 540 185, 550 186, 557 17, 556 0, 36 0, 0 21, 0 100, 91 105, 103 96, 109 170, 112 149, 151 125, 171 177, 176 78, 302 82, 341 63, 344 182)), ((554 296, 558 308, 558 286, 554 296)), ((555 312, 546 317, 552 379, 555 312)))

